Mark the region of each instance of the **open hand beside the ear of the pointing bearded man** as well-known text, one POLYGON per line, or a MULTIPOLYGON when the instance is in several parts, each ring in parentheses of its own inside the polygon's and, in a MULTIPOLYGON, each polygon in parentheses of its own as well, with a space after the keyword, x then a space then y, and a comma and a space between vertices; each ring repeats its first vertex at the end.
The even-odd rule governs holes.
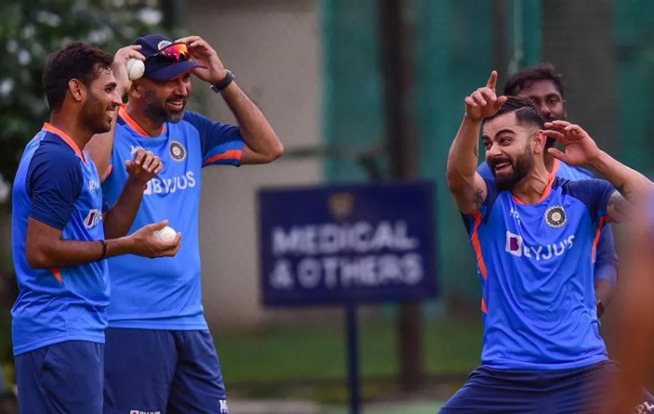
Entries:
POLYGON ((551 136, 563 144, 564 151, 549 148, 549 153, 570 165, 587 165, 600 155, 600 149, 593 138, 579 125, 568 121, 545 123, 545 135, 551 136))

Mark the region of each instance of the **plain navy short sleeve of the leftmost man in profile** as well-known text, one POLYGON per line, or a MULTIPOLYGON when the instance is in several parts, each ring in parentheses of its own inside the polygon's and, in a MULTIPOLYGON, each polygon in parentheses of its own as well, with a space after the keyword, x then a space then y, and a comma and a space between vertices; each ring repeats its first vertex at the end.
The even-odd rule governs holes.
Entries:
MULTIPOLYGON (((55 147, 56 148, 56 147, 55 147)), ((39 147, 27 170, 29 217, 63 230, 82 192, 81 160, 65 150, 39 147)))

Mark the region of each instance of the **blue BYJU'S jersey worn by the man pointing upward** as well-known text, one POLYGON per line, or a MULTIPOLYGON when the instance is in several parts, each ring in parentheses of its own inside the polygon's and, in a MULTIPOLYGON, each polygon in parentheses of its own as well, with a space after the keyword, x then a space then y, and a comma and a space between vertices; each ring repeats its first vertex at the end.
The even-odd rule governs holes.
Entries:
POLYGON ((613 185, 551 175, 528 205, 484 180, 486 200, 463 216, 483 283, 482 364, 549 370, 606 360, 593 261, 613 185))

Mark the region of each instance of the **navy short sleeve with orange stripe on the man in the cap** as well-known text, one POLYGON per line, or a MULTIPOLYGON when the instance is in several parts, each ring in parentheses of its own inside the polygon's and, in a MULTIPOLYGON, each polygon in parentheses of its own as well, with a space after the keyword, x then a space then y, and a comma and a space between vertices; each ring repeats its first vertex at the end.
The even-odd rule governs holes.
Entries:
POLYGON ((186 112, 184 119, 198 129, 202 148, 202 167, 214 164, 239 165, 243 155, 243 137, 238 127, 186 112))

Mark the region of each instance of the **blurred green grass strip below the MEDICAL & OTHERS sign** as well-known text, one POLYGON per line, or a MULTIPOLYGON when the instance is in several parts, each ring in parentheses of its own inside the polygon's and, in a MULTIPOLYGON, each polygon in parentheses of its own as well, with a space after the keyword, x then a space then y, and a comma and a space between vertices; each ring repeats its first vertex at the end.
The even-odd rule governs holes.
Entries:
MULTIPOLYGON (((222 373, 230 384, 340 379, 347 374, 343 326, 284 327, 250 334, 213 335, 222 373)), ((479 364, 478 322, 426 323, 423 335, 428 373, 465 373, 479 364)), ((362 377, 396 374, 397 342, 394 321, 362 324, 362 377)))

